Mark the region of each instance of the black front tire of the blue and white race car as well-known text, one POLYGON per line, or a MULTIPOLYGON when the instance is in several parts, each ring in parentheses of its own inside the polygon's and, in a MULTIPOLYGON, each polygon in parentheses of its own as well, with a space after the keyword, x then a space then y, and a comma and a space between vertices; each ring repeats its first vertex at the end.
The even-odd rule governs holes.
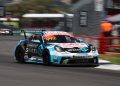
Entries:
POLYGON ((50 53, 49 53, 48 50, 45 50, 43 52, 43 64, 46 65, 46 66, 51 64, 50 63, 50 53))

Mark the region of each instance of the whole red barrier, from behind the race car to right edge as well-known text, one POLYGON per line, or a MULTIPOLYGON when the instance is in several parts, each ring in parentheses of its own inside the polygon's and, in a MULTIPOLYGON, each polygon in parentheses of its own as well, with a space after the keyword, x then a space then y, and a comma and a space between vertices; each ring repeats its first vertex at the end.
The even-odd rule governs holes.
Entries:
POLYGON ((75 35, 87 43, 98 48, 100 54, 116 53, 120 54, 120 37, 92 37, 85 35, 75 35))

